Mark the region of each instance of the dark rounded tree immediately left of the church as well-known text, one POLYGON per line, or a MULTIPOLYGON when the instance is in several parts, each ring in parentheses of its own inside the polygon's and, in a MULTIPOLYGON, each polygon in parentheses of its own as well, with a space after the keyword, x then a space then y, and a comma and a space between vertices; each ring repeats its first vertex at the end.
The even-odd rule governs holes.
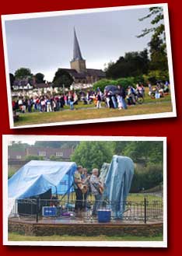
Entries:
POLYGON ((69 75, 69 73, 62 69, 62 68, 58 68, 58 71, 55 72, 55 75, 54 75, 54 79, 53 79, 53 83, 54 83, 54 86, 65 86, 65 87, 69 87, 72 85, 72 82, 74 80, 72 79, 72 76, 69 75))

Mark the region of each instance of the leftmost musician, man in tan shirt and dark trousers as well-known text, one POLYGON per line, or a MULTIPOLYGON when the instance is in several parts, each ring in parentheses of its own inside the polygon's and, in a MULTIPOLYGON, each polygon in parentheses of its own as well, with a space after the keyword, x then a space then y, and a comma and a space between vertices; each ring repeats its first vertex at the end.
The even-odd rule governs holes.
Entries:
POLYGON ((74 189, 75 189, 75 212, 80 213, 83 209, 83 194, 79 185, 82 184, 82 166, 77 167, 74 174, 74 189))

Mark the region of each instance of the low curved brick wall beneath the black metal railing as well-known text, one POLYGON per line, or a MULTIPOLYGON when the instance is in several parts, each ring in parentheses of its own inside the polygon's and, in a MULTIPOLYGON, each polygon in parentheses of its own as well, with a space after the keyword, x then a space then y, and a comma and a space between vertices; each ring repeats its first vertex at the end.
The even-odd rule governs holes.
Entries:
POLYGON ((22 223, 9 220, 9 232, 21 233, 32 236, 51 235, 87 235, 87 236, 124 236, 137 235, 138 237, 155 237, 163 234, 163 223, 157 224, 47 224, 47 223, 22 223))

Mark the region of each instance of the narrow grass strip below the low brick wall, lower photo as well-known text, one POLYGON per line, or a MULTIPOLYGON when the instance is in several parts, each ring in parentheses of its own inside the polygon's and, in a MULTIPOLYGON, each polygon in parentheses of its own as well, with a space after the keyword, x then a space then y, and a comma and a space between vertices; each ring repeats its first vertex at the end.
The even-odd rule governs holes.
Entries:
POLYGON ((9 241, 163 241, 163 236, 157 237, 137 237, 137 236, 124 236, 124 237, 86 237, 86 236, 51 236, 51 237, 31 237, 23 236, 18 233, 9 233, 9 241))

